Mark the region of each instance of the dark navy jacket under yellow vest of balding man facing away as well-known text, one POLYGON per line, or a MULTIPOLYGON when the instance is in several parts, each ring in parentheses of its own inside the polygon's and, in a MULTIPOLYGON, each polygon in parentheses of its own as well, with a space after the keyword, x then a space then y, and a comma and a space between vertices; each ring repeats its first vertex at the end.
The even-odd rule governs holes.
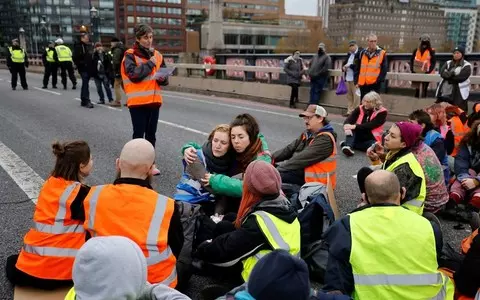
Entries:
MULTIPOLYGON (((393 204, 374 205, 390 206, 393 204)), ((354 210, 352 213, 368 209, 374 206, 364 206, 354 210)), ((399 209, 406 209, 399 207, 399 209)), ((408 224, 405 224, 408 225, 408 224)), ((443 247, 443 236, 441 229, 436 223, 432 222, 433 233, 435 235, 435 246, 437 258, 440 257, 443 247)), ((325 241, 328 249, 327 271, 325 272, 324 291, 338 290, 345 295, 352 295, 354 290, 354 280, 352 265, 350 264, 350 255, 352 251, 352 233, 350 228, 350 215, 347 215, 336 221, 325 233, 325 241)), ((375 255, 375 253, 372 253, 375 255)))

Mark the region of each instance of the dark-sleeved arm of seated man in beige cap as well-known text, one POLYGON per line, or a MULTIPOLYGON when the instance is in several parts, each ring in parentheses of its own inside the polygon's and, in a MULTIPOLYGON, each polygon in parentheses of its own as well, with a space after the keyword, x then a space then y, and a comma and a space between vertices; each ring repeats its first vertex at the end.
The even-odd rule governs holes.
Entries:
POLYGON ((294 157, 279 164, 279 171, 294 171, 305 169, 308 166, 316 164, 327 159, 333 152, 333 141, 328 135, 316 137, 310 146, 305 147, 294 157))

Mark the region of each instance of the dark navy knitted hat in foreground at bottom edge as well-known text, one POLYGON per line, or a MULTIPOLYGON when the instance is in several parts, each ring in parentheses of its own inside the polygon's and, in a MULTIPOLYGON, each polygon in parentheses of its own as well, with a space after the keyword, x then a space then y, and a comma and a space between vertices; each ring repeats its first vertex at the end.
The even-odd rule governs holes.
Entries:
POLYGON ((247 289, 255 300, 307 300, 310 297, 307 264, 285 250, 272 251, 253 268, 247 289))

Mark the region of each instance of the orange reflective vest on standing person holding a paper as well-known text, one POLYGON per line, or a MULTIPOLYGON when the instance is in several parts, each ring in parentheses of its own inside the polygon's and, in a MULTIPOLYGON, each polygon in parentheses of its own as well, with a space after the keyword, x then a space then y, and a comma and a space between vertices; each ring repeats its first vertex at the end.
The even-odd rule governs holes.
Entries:
MULTIPOLYGON (((133 49, 128 49, 125 54, 131 54, 135 57, 137 65, 146 64, 149 60, 136 56, 133 49)), ((123 89, 127 95, 127 106, 139 106, 151 103, 162 103, 162 95, 160 94, 160 85, 155 79, 155 73, 162 65, 163 56, 155 50, 155 58, 157 64, 152 68, 152 72, 140 82, 132 82, 125 72, 125 56, 122 60, 121 74, 123 89)))

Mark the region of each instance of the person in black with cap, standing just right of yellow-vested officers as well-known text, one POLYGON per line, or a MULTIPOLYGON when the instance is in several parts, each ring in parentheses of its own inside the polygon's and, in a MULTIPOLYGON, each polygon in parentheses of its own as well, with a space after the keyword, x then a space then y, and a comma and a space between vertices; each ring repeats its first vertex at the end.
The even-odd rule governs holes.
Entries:
POLYGON ((82 91, 80 92, 81 106, 93 108, 90 101, 90 82, 93 59, 93 47, 87 32, 82 32, 80 41, 73 48, 73 61, 77 66, 78 73, 82 77, 82 91))

